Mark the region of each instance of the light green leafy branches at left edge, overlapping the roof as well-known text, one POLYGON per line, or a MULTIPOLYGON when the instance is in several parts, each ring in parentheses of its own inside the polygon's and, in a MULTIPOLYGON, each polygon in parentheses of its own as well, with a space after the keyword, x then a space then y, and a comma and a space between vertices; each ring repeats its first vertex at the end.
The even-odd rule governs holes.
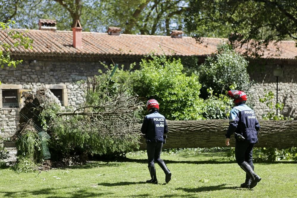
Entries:
MULTIPOLYGON (((32 49, 32 43, 33 40, 30 39, 29 37, 26 37, 25 34, 27 31, 20 33, 15 30, 8 30, 15 24, 15 21, 13 20, 8 20, 7 23, 0 22, 0 28, 4 30, 7 34, 7 36, 0 40, 0 66, 3 68, 4 66, 13 66, 16 67, 16 65, 22 63, 22 60, 13 60, 10 58, 10 51, 9 49, 18 47, 18 46, 23 46, 25 49, 32 49), (6 42, 6 40, 10 38, 13 40, 13 45, 10 45, 6 42), (2 49, 1 49, 2 47, 2 49)), ((1 81, 0 81, 1 85, 1 81)))

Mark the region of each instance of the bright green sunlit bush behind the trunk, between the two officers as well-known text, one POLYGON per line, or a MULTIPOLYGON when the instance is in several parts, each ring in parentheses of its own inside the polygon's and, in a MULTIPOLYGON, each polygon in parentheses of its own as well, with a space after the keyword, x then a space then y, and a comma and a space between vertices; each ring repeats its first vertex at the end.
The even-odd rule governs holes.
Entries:
POLYGON ((199 98, 200 83, 194 74, 186 76, 180 59, 165 56, 150 56, 140 63, 140 71, 134 83, 134 91, 143 101, 156 99, 160 104, 160 112, 170 120, 202 119, 199 98))

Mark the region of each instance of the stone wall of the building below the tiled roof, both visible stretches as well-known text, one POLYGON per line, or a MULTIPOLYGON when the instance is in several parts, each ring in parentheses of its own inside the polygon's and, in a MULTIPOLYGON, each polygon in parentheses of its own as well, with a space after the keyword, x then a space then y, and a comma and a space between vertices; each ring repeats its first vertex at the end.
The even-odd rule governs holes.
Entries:
MULTIPOLYGON (((128 62, 135 60, 129 59, 128 62)), ((107 64, 110 60, 106 61, 107 64)), ((118 62, 119 63, 119 62, 118 62)), ((127 62, 124 63, 127 67, 127 62)), ((297 117, 297 103, 295 100, 297 92, 297 60, 261 60, 250 61, 249 74, 254 81, 249 91, 249 100, 254 105, 258 118, 268 112, 265 104, 260 104, 258 99, 265 94, 264 89, 276 94, 276 77, 273 70, 281 66, 284 74, 279 77, 278 101, 285 103, 282 114, 297 117)), ((16 68, 4 67, 0 69, 0 80, 4 85, 21 85, 20 90, 37 91, 48 85, 66 85, 67 108, 76 107, 84 102, 86 84, 78 84, 71 75, 92 77, 98 75, 98 69, 103 72, 105 68, 99 61, 24 61, 16 68)), ((276 97, 274 98, 276 102, 276 97)), ((0 108, 0 129, 3 128, 1 136, 9 137, 17 130, 19 119, 19 108, 0 108)))

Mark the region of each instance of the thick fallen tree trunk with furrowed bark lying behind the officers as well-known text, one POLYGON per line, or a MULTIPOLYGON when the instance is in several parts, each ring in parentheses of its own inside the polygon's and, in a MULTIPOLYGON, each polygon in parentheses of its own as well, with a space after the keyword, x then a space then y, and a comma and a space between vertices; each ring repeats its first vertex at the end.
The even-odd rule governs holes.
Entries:
MULTIPOLYGON (((297 121, 260 120, 261 129, 256 147, 290 148, 297 147, 297 121)), ((163 148, 226 147, 225 133, 228 120, 167 121, 168 138, 163 148)), ((139 126, 139 128, 141 125, 139 126)), ((140 150, 145 150, 144 138, 140 150)), ((235 146, 232 135, 230 146, 235 146)))

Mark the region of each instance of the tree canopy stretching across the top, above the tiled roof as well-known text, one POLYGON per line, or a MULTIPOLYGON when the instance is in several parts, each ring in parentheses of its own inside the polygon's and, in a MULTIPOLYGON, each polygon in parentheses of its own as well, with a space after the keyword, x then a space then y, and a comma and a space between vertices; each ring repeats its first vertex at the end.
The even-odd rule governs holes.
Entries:
POLYGON ((118 26, 125 34, 169 35, 178 29, 198 41, 229 38, 255 51, 273 40, 297 40, 297 1, 291 0, 8 0, 0 6, 0 21, 18 21, 16 28, 37 29, 46 18, 70 30, 79 19, 84 31, 118 26))

